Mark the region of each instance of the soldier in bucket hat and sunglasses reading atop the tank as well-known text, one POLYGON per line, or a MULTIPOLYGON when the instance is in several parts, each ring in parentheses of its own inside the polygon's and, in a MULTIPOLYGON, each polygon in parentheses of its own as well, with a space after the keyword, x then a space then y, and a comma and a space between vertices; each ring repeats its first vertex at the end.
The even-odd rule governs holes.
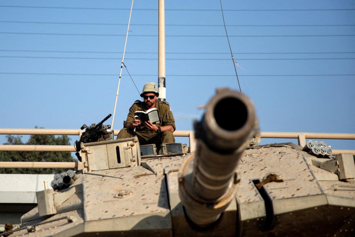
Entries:
POLYGON ((117 135, 117 139, 138 137, 141 145, 155 144, 157 148, 162 143, 174 143, 175 138, 175 120, 169 103, 166 101, 158 101, 157 84, 148 82, 143 87, 141 97, 143 102, 136 100, 131 106, 127 120, 123 122, 124 128, 117 135), (150 121, 141 123, 140 119, 135 118, 135 111, 147 111, 148 109, 158 109, 160 123, 155 125, 150 121), (134 131, 136 129, 136 131, 134 131))

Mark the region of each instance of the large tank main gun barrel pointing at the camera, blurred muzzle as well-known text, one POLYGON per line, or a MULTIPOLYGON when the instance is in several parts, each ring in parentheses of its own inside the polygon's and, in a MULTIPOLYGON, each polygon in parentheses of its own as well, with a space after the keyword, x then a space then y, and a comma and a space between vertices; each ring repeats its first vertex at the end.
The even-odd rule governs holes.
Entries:
POLYGON ((250 99, 228 88, 217 90, 195 122, 196 153, 179 170, 179 196, 196 225, 216 221, 235 197, 237 162, 257 131, 250 99))

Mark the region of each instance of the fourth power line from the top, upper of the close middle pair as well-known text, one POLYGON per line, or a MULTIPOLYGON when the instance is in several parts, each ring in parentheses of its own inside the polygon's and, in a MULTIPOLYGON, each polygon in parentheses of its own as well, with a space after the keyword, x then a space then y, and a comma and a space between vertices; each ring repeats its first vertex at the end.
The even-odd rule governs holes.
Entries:
MULTIPOLYGON (((121 54, 123 52, 109 51, 60 51, 60 50, 16 50, 16 49, 0 49, 3 52, 39 52, 39 53, 108 53, 121 54)), ((126 52, 129 54, 158 54, 158 52, 126 52)), ((284 53, 239 53, 238 54, 353 54, 355 52, 284 52, 284 53)), ((214 53, 214 52, 165 52, 165 54, 229 54, 229 53, 214 53)))

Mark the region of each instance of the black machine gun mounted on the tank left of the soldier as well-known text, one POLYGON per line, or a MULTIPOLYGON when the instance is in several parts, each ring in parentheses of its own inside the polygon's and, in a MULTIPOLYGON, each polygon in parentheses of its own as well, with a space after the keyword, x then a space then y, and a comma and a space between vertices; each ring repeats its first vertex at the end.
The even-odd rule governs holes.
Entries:
POLYGON ((79 155, 80 144, 87 142, 95 142, 95 141, 108 141, 110 140, 110 134, 107 129, 111 128, 111 125, 103 125, 103 123, 111 117, 111 114, 107 115, 103 120, 101 120, 98 124, 91 124, 88 127, 86 124, 81 126, 81 130, 86 128, 86 130, 82 133, 80 140, 75 141, 75 155, 78 157, 78 160, 81 161, 81 156, 79 155))

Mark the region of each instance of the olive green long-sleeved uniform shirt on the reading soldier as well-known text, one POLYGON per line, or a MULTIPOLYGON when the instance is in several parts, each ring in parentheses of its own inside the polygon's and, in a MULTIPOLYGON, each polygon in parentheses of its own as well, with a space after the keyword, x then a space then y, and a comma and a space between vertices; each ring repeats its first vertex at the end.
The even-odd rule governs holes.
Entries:
MULTIPOLYGON (((174 120, 174 116, 173 116, 173 112, 171 112, 169 103, 166 101, 158 101, 158 99, 155 101, 155 107, 156 109, 158 109, 158 113, 159 113, 159 118, 160 118, 160 123, 159 124, 155 124, 158 127, 159 126, 166 126, 166 125, 171 125, 173 126, 173 129, 175 131, 176 127, 175 127, 175 120, 174 120)), ((147 111, 147 106, 144 102, 142 101, 135 101, 134 104, 132 104, 130 111, 127 115, 127 120, 124 122, 124 127, 126 126, 126 123, 133 123, 134 120, 134 112, 136 111, 147 111)), ((141 136, 145 137, 145 138, 151 138, 152 136, 157 135, 158 133, 156 132, 152 132, 149 131, 148 128, 146 126, 143 125, 143 123, 141 123, 141 126, 137 126, 136 127, 136 133, 140 134, 141 136)))

